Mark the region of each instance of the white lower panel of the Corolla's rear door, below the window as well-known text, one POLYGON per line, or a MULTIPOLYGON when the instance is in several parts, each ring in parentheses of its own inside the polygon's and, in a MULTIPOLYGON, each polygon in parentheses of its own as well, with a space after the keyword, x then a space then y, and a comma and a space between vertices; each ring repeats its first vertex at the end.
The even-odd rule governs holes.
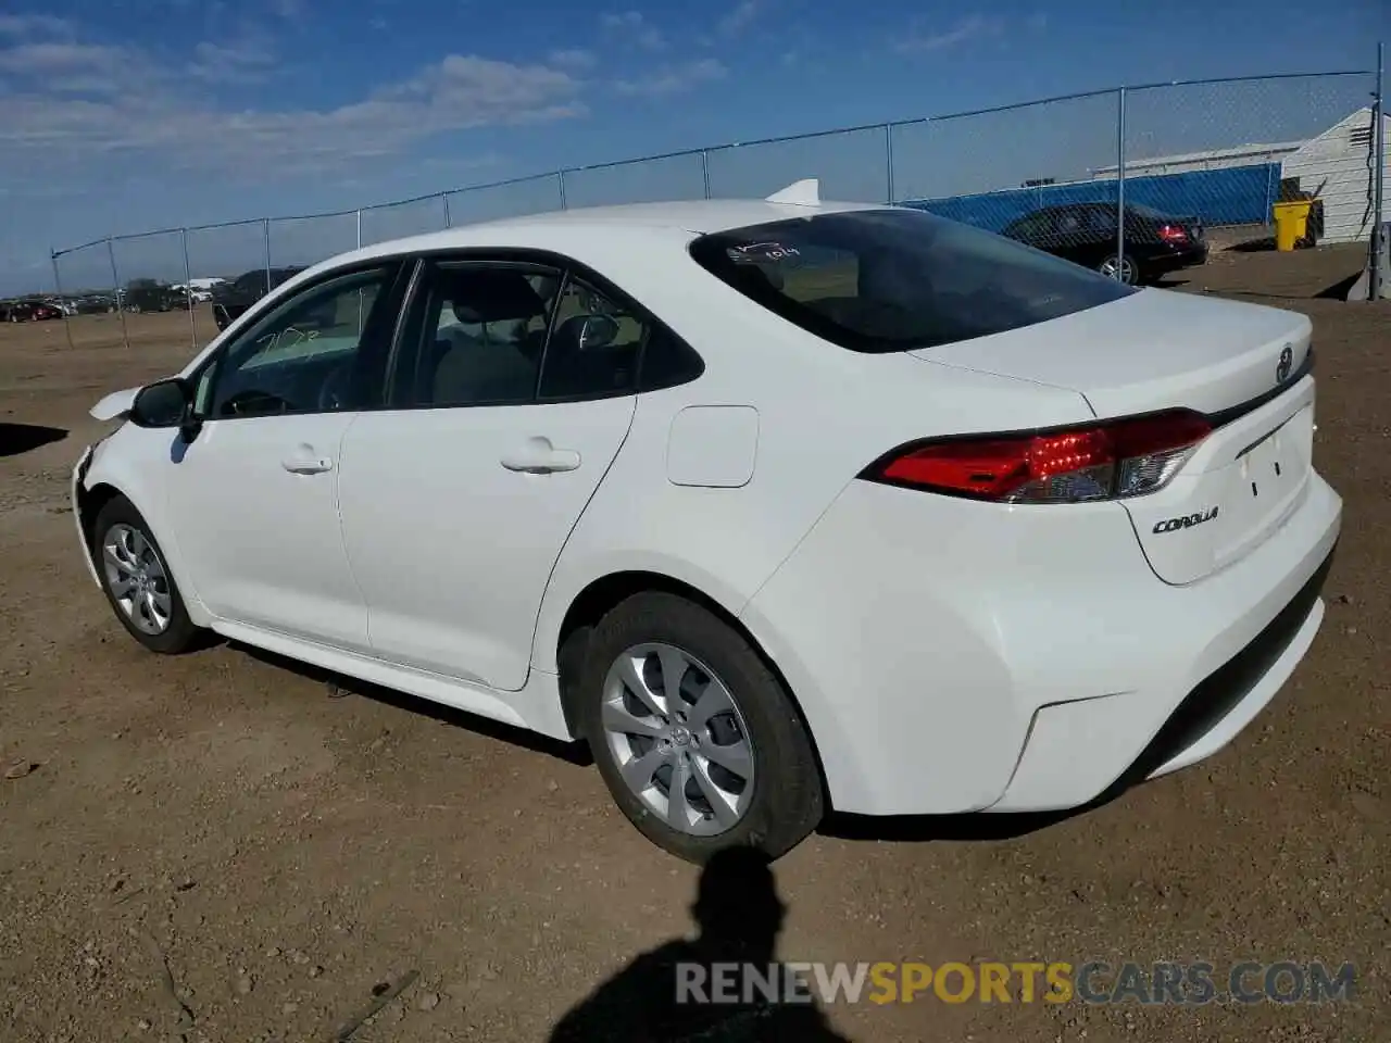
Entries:
POLYGON ((627 437, 633 405, 626 396, 362 414, 344 442, 339 481, 373 652, 522 688, 547 580, 627 437), (577 453, 579 466, 552 474, 501 466, 531 438, 577 453))

